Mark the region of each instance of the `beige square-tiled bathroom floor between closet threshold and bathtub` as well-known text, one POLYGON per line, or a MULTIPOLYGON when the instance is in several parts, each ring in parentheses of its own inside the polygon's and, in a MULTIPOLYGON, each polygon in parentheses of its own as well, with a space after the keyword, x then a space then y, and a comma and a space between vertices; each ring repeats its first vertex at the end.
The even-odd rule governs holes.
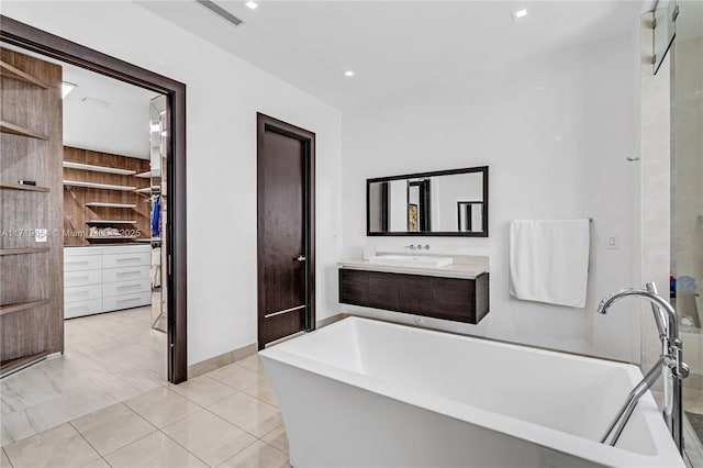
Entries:
POLYGON ((290 466, 276 395, 256 356, 11 443, 1 455, 2 468, 290 466))

